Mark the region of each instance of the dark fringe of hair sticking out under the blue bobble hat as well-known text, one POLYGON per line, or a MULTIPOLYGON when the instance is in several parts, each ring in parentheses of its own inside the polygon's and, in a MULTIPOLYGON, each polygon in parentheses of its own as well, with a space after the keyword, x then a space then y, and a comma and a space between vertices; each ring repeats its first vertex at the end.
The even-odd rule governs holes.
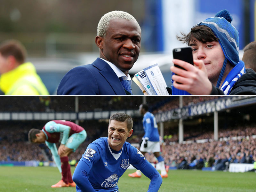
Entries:
POLYGON ((195 41, 200 41, 202 43, 218 41, 212 29, 205 25, 198 25, 196 27, 191 28, 188 34, 182 33, 181 36, 176 36, 179 41, 183 43, 190 44, 190 42, 195 43, 195 41))

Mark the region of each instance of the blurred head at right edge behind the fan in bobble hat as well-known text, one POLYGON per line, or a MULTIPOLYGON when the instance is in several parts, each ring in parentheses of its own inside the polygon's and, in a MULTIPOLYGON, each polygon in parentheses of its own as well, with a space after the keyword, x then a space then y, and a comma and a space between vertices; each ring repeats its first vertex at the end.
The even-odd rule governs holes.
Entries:
POLYGON ((245 68, 251 68, 256 71, 256 41, 253 41, 244 47, 244 61, 245 68))

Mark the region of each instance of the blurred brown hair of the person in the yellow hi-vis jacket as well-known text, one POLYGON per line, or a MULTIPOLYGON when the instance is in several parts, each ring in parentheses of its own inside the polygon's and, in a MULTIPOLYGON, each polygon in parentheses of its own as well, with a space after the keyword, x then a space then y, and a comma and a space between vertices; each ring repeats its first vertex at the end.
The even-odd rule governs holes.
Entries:
POLYGON ((13 56, 20 64, 25 62, 27 51, 17 40, 7 40, 0 44, 0 53, 7 58, 13 56))

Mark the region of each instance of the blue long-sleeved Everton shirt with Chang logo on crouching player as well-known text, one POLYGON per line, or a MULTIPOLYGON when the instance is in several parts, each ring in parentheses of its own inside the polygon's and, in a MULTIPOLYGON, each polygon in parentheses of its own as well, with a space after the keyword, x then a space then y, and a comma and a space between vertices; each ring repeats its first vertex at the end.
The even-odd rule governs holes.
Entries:
POLYGON ((128 142, 120 151, 114 151, 108 137, 93 141, 79 160, 73 174, 76 191, 118 191, 117 182, 130 164, 151 180, 148 192, 158 191, 162 178, 141 152, 128 142))

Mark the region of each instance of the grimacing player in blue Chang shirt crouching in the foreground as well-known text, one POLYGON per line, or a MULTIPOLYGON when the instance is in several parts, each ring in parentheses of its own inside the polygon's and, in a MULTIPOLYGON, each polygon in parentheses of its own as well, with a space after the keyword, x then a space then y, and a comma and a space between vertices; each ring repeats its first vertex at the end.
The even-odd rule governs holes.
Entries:
POLYGON ((130 164, 151 180, 148 191, 158 191, 163 181, 160 174, 138 149, 125 142, 132 135, 132 125, 132 117, 127 114, 110 117, 108 137, 88 145, 76 165, 73 180, 77 192, 118 192, 117 182, 130 164))

